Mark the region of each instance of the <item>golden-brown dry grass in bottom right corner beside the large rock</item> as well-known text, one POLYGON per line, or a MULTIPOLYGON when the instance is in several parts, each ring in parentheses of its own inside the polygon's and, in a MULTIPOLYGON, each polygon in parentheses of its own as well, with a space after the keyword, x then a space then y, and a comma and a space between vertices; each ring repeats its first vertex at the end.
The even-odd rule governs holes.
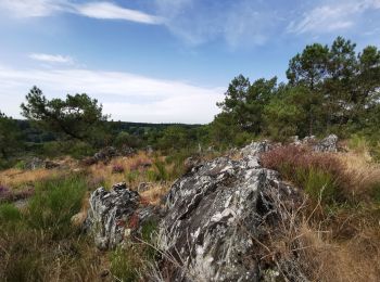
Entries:
POLYGON ((305 200, 299 209, 289 210, 277 203, 280 221, 277 228, 267 227, 255 248, 262 264, 276 266, 286 281, 378 281, 379 210, 342 209, 321 218, 320 204, 313 208, 305 200))

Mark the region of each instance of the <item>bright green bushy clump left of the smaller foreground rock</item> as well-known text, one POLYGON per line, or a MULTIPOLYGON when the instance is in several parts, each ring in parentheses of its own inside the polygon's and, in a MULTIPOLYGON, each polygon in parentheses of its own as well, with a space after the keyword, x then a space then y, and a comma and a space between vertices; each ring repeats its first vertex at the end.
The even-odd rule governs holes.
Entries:
POLYGON ((86 180, 81 176, 38 182, 28 204, 29 226, 48 230, 53 236, 66 236, 72 231, 72 216, 80 210, 86 189, 86 180))

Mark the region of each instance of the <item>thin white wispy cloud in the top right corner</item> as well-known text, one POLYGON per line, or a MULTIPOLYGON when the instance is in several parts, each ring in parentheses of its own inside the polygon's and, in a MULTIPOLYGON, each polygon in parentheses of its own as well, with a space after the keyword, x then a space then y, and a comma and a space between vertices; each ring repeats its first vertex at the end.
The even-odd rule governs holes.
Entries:
POLYGON ((303 14, 301 20, 288 25, 292 34, 324 34, 345 30, 356 24, 356 20, 369 9, 380 9, 380 0, 345 0, 320 4, 303 14))

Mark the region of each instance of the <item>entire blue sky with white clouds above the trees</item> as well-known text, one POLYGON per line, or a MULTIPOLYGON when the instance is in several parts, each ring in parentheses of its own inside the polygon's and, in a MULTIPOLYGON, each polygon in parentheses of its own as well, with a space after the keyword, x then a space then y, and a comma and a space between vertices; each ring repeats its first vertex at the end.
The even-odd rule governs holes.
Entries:
POLYGON ((0 0, 0 111, 33 86, 114 120, 205 124, 229 81, 277 76, 306 44, 380 46, 380 0, 0 0))

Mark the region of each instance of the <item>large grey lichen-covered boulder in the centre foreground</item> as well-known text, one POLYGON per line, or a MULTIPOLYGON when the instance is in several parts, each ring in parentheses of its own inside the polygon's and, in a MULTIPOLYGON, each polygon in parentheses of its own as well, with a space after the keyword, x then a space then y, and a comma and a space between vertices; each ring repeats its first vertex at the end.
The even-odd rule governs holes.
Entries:
POLYGON ((253 238, 278 211, 270 198, 295 198, 278 172, 259 166, 259 154, 269 149, 266 141, 252 143, 241 150, 242 159, 218 157, 174 183, 159 232, 160 248, 182 265, 170 281, 262 278, 253 238))

